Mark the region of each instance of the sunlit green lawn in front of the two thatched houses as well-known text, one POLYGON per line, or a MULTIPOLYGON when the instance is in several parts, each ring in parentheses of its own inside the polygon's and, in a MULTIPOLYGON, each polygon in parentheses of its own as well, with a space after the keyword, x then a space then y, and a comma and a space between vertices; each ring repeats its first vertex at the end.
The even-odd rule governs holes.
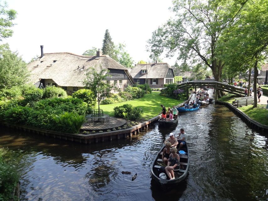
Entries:
POLYGON ((141 107, 144 112, 143 118, 148 120, 152 117, 157 116, 161 112, 162 110, 160 106, 161 104, 163 104, 163 106, 168 108, 172 107, 173 105, 176 106, 185 101, 185 100, 175 100, 172 98, 167 98, 165 96, 159 95, 159 93, 160 93, 159 91, 152 91, 151 94, 145 94, 142 98, 139 99, 129 100, 122 103, 100 105, 100 109, 103 110, 103 113, 113 117, 114 107, 122 106, 124 104, 131 104, 134 107, 141 107))

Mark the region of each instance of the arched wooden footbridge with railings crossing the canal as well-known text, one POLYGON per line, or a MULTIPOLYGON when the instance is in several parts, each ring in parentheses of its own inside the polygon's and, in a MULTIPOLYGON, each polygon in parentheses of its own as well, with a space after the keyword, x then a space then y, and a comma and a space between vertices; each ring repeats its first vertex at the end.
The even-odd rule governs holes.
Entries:
POLYGON ((197 88, 217 89, 238 96, 244 96, 245 92, 244 88, 236 87, 227 83, 217 82, 215 80, 193 80, 178 84, 178 89, 185 89, 188 91, 190 88, 193 88, 195 91, 197 88))

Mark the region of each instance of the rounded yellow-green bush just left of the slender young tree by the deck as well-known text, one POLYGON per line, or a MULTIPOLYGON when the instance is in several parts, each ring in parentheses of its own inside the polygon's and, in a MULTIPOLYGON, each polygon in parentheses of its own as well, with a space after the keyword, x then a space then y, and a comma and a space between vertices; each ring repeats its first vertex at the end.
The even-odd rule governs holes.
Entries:
POLYGON ((90 108, 95 108, 96 106, 96 97, 93 91, 89 89, 80 89, 73 93, 74 98, 79 98, 86 102, 90 108))

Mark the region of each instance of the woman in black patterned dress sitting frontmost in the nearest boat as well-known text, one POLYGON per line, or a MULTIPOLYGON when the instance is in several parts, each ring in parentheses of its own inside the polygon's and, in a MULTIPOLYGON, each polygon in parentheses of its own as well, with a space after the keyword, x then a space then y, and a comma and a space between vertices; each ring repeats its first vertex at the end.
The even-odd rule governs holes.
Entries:
POLYGON ((176 147, 171 148, 171 154, 169 155, 167 166, 165 167, 165 171, 169 179, 175 179, 174 170, 180 169, 180 157, 177 154, 176 147))

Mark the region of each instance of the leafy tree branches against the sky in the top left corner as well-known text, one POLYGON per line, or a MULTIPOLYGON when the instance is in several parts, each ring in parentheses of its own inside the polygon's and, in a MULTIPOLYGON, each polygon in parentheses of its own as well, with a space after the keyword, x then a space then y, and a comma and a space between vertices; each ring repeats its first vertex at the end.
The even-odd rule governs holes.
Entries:
POLYGON ((16 18, 17 12, 15 10, 8 10, 6 2, 2 5, 0 2, 0 41, 3 38, 8 38, 13 35, 13 30, 8 29, 14 26, 12 22, 16 18))

